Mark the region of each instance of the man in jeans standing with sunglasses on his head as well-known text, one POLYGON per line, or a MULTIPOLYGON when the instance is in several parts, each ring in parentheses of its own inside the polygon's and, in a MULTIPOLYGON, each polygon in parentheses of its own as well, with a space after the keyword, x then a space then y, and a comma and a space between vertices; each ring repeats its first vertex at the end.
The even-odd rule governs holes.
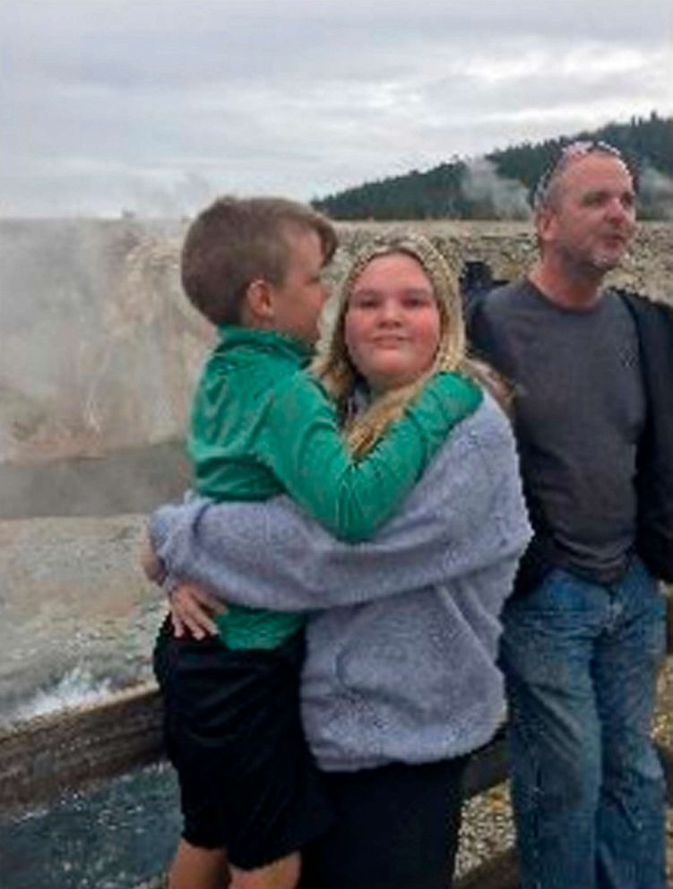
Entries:
POLYGON ((514 385, 535 531, 501 649, 522 886, 663 889, 650 731, 656 577, 673 577, 673 313, 601 289, 635 228, 617 150, 567 146, 534 209, 538 262, 470 319, 514 385))

